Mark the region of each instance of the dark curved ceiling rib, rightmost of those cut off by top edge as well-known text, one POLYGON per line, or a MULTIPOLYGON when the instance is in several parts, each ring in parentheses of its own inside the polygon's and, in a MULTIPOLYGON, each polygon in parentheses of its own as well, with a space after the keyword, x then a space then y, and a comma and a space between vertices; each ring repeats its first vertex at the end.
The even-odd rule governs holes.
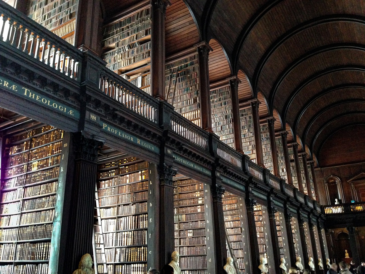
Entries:
POLYGON ((241 49, 243 44, 246 41, 247 36, 250 34, 251 30, 253 30, 254 26, 257 24, 257 22, 260 21, 260 19, 270 11, 274 6, 276 6, 278 3, 282 2, 283 0, 274 0, 269 1, 265 5, 263 5, 246 23, 246 25, 242 28, 241 33, 238 35, 237 41, 235 42, 235 45, 233 47, 232 52, 232 60, 233 60, 233 69, 235 74, 238 72, 238 59, 239 54, 241 53, 241 49))

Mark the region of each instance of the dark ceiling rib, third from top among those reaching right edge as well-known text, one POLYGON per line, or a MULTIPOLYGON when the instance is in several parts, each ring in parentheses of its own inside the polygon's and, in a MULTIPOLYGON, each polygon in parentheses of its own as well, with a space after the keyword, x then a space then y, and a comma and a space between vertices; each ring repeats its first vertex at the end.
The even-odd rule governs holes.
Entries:
POLYGON ((285 101, 284 103, 284 107, 283 107, 283 111, 281 113, 284 121, 286 121, 286 115, 287 115, 287 111, 288 108, 290 106, 290 104, 292 103, 293 99, 295 98, 295 96, 309 83, 311 83, 312 81, 318 79, 321 76, 324 75, 328 75, 334 72, 338 72, 338 71, 361 71, 361 72, 365 72, 365 66, 336 66, 336 67, 331 67, 328 69, 324 69, 323 71, 320 72, 316 72, 313 75, 307 77, 304 81, 302 81, 298 87, 295 89, 295 91, 293 91, 291 93, 291 95, 289 96, 289 98, 285 101))

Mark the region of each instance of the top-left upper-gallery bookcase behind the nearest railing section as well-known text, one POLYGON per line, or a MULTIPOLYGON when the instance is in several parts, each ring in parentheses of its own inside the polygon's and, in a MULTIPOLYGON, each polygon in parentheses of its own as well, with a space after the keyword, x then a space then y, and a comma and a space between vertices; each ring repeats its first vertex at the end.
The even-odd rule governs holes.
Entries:
POLYGON ((74 45, 78 0, 31 0, 28 16, 65 41, 74 45))

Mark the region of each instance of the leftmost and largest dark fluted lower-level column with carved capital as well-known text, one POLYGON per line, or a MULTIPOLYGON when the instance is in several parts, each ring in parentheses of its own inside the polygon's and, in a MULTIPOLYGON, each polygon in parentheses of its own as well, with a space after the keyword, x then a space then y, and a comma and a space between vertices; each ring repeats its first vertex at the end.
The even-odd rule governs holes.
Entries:
POLYGON ((60 245, 60 254, 64 256, 58 262, 58 273, 72 273, 82 255, 93 254, 97 152, 103 143, 77 132, 71 134, 68 145, 69 163, 73 167, 66 175, 60 245))

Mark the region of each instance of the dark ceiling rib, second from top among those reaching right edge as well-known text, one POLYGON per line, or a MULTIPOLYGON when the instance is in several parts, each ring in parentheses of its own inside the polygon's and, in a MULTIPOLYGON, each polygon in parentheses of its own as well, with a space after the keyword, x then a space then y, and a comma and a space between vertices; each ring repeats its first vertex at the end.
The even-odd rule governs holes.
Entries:
POLYGON ((325 53, 325 52, 329 52, 332 50, 342 50, 342 49, 354 49, 354 50, 361 50, 361 51, 365 51, 365 45, 362 44, 353 44, 353 43, 336 43, 336 44, 332 44, 332 45, 326 45, 326 46, 321 46, 315 49, 312 49, 310 52, 307 52, 305 54, 303 54, 302 56, 300 56, 299 58, 297 58, 296 60, 294 60, 293 62, 291 62, 284 70, 283 72, 280 74, 280 76, 276 79, 271 91, 270 91, 270 97, 269 97, 269 106, 271 107, 273 105, 273 101, 276 95, 276 92, 278 90, 278 87, 280 86, 280 84, 283 82, 283 80, 285 79, 286 76, 288 76, 293 69, 301 64, 302 62, 308 60, 308 58, 314 57, 318 54, 321 53, 325 53))

